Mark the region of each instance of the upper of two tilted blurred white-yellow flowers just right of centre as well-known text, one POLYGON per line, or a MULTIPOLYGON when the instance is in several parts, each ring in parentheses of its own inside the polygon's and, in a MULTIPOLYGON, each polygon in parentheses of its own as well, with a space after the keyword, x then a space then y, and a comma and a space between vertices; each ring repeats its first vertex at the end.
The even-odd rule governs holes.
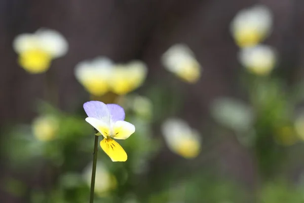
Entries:
POLYGON ((202 67, 194 53, 184 44, 170 47, 162 56, 166 69, 188 83, 196 83, 201 77, 202 67))

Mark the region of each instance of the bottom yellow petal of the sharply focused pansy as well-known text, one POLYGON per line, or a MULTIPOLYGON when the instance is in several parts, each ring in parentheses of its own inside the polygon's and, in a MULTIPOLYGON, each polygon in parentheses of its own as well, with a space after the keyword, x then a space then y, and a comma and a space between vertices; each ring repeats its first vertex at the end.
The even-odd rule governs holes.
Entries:
POLYGON ((112 161, 126 161, 128 158, 127 153, 122 146, 110 138, 103 139, 100 142, 100 147, 112 161))

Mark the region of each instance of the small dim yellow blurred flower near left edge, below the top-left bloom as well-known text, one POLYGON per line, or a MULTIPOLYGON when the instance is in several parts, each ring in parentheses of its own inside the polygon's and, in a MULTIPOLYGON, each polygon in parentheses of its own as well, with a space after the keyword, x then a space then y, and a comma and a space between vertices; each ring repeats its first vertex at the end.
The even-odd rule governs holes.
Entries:
POLYGON ((33 120, 34 136, 40 141, 51 141, 56 138, 59 122, 54 116, 40 116, 33 120))

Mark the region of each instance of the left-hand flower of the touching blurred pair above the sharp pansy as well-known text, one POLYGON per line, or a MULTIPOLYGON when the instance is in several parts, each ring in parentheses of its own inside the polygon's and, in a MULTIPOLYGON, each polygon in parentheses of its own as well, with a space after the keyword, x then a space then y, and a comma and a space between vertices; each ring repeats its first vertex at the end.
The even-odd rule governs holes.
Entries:
POLYGON ((106 57, 97 57, 92 61, 82 61, 75 67, 76 79, 95 96, 101 96, 110 90, 109 81, 113 63, 106 57))

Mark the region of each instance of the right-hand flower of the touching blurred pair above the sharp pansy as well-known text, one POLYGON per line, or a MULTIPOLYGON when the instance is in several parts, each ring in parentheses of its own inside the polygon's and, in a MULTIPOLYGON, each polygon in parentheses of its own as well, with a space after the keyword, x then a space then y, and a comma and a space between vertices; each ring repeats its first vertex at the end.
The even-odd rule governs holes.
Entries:
POLYGON ((117 64, 112 70, 109 85, 116 94, 127 94, 138 88, 147 75, 147 66, 139 60, 117 64))

